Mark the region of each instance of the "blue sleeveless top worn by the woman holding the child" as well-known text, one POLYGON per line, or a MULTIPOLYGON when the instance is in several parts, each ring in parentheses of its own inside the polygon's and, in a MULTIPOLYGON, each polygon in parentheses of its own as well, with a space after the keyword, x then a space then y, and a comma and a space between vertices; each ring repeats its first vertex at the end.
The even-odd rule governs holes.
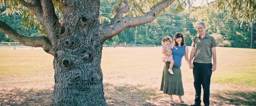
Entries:
POLYGON ((174 65, 180 67, 181 59, 185 55, 186 46, 174 46, 172 49, 174 65))

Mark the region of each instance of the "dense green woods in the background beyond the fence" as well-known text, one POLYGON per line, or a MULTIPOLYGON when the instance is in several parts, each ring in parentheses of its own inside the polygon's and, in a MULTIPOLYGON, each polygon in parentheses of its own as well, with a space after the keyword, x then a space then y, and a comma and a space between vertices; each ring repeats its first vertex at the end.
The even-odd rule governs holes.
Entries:
MULTIPOLYGON (((99 20, 104 24, 112 17, 112 9, 115 9, 115 1, 103 0, 100 5, 100 18, 99 20)), ((120 5, 120 4, 119 4, 120 5)), ((131 9, 138 9, 131 7, 131 9)), ((147 8, 146 6, 139 9, 147 8)), ((2 13, 5 8, 1 8, 2 13)), ((192 37, 197 34, 194 27, 196 22, 203 21, 207 25, 207 33, 213 35, 219 46, 224 47, 238 47, 250 48, 251 47, 251 34, 252 48, 256 48, 255 30, 256 24, 243 22, 240 20, 226 18, 228 10, 217 11, 212 4, 209 6, 192 7, 190 9, 179 9, 178 4, 173 4, 166 8, 156 20, 150 24, 127 28, 117 36, 114 36, 105 43, 113 42, 127 42, 128 44, 156 44, 161 45, 161 40, 164 36, 173 36, 176 32, 182 32, 185 36, 186 45, 191 45, 192 37)), ((130 11, 131 12, 131 11, 130 11)), ((133 11, 134 12, 134 11, 133 11)), ((128 12, 129 13, 129 12, 128 12)), ((131 15, 131 13, 125 15, 131 15)), ((125 17, 124 15, 124 17, 125 17)), ((136 15, 136 13, 135 13, 136 15)), ((13 29, 27 36, 39 36, 37 27, 31 26, 32 29, 27 29, 25 24, 21 25, 24 19, 21 15, 0 16, 0 21, 7 23, 13 29)), ((40 30, 39 30, 40 31, 40 30)), ((4 42, 15 42, 14 39, 6 36, 0 32, 0 40, 4 42)))

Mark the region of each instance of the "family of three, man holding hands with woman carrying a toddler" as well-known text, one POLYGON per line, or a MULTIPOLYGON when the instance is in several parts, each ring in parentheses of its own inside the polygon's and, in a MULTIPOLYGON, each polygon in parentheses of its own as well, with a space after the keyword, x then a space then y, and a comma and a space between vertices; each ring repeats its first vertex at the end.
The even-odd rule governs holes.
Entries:
POLYGON ((205 106, 210 105, 210 81, 212 72, 216 70, 216 42, 213 36, 207 34, 203 22, 196 24, 198 35, 194 36, 190 59, 188 58, 188 47, 185 45, 182 33, 175 33, 172 38, 166 36, 162 40, 163 76, 160 90, 170 97, 170 104, 174 104, 172 95, 178 95, 181 104, 186 105, 182 100, 184 89, 181 79, 181 60, 185 56, 186 63, 193 69, 195 100, 191 106, 201 105, 201 85, 203 87, 203 102, 205 106), (213 63, 212 63, 213 57, 213 63), (193 63, 192 63, 192 59, 193 63))

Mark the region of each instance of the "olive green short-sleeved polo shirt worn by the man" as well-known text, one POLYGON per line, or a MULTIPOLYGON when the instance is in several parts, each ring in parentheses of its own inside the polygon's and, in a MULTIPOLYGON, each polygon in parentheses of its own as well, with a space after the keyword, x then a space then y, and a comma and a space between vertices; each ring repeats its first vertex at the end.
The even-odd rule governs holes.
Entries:
POLYGON ((193 62, 196 63, 212 63, 212 47, 217 44, 213 36, 205 34, 204 38, 196 35, 194 36, 192 46, 196 48, 195 58, 193 62))

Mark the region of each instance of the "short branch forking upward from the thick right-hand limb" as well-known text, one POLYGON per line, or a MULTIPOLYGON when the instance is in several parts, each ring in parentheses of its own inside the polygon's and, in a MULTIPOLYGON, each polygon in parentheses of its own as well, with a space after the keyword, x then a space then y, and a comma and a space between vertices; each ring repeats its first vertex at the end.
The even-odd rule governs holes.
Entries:
POLYGON ((129 3, 127 0, 122 0, 123 1, 123 7, 117 7, 117 11, 115 13, 114 18, 111 20, 110 25, 113 25, 117 23, 118 21, 121 20, 122 14, 126 13, 128 11, 128 6, 129 3))

